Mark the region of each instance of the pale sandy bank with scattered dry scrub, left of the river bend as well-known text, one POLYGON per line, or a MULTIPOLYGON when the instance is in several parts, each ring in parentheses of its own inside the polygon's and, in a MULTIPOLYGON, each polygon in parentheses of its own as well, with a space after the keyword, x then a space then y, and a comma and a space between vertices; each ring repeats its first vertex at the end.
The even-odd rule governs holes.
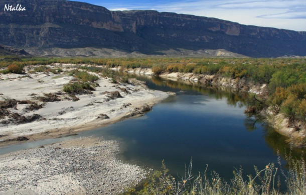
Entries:
MULTIPOLYGON (((19 136, 30 140, 58 137, 73 134, 77 131, 94 129, 121 119, 142 114, 153 104, 165 99, 168 94, 150 90, 141 81, 129 79, 129 83, 112 83, 112 78, 101 73, 93 73, 99 77, 99 86, 92 94, 76 95, 79 100, 73 101, 63 92, 63 85, 75 79, 69 75, 74 69, 73 64, 48 65, 49 68, 61 68, 63 72, 35 72, 34 66, 26 67, 26 74, 0 74, 0 96, 4 99, 31 100, 38 104, 44 103, 37 110, 29 110, 30 104, 17 103, 8 108, 7 116, 0 118, 0 145, 14 142, 19 136), (120 96, 110 98, 110 93, 118 91, 120 96), (59 94, 59 101, 42 102, 39 100, 44 93, 59 94), (68 99, 70 100, 68 100, 68 99), (32 122, 16 123, 8 121, 13 113, 21 116, 40 117, 32 122)), ((82 70, 82 69, 80 69, 82 70)), ((82 70, 83 71, 83 70, 82 70)))

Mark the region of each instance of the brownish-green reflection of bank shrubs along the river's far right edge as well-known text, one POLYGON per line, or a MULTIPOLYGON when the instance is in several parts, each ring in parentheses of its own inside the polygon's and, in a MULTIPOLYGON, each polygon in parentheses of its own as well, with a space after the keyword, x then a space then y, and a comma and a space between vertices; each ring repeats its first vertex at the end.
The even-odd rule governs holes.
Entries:
MULTIPOLYGON (((125 72, 117 72, 121 75, 135 76, 135 74, 125 73, 125 72)), ((137 74, 138 79, 150 80, 154 84, 158 86, 165 86, 177 89, 176 91, 196 91, 199 94, 212 96, 216 99, 226 98, 227 103, 233 106, 247 106, 249 104, 249 96, 248 93, 233 91, 228 87, 220 87, 216 85, 204 85, 203 83, 194 82, 191 80, 182 80, 179 79, 177 81, 170 80, 163 77, 148 77, 145 75, 137 74)), ((171 100, 171 99, 170 99, 171 100)), ((244 119, 244 125, 247 130, 253 131, 257 129, 257 126, 264 126, 264 139, 265 142, 273 149, 274 154, 277 154, 277 150, 279 150, 279 154, 282 159, 285 159, 285 154, 289 153, 290 145, 287 143, 287 137, 277 133, 272 127, 267 125, 266 123, 262 123, 263 118, 261 116, 246 116, 244 119)), ((300 148, 292 148, 292 156, 299 158, 303 156, 306 159, 306 154, 303 153, 303 149, 300 148)), ((276 159, 275 159, 276 160, 276 159)))

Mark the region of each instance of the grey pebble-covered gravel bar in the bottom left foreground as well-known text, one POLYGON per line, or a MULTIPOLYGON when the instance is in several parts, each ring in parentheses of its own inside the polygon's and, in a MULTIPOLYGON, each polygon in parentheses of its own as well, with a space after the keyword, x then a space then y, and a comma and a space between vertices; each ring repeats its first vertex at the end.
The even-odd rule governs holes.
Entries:
POLYGON ((113 140, 82 137, 0 155, 0 194, 118 194, 146 172, 113 140))

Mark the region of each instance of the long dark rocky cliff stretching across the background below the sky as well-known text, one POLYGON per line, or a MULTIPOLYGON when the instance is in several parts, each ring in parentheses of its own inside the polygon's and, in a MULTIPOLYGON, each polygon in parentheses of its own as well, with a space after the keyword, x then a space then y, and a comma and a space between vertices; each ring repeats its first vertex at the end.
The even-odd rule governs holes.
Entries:
POLYGON ((306 32, 151 10, 109 11, 65 0, 0 0, 0 43, 146 54, 183 48, 226 49, 253 57, 306 55, 306 32), (5 4, 18 3, 26 10, 4 10, 5 4))

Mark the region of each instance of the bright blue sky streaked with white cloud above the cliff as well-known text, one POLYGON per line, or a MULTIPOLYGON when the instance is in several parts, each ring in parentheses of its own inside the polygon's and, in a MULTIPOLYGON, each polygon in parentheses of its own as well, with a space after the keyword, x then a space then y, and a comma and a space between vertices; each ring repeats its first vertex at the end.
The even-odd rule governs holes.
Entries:
POLYGON ((75 0, 110 10, 152 9, 306 31, 306 0, 75 0))

